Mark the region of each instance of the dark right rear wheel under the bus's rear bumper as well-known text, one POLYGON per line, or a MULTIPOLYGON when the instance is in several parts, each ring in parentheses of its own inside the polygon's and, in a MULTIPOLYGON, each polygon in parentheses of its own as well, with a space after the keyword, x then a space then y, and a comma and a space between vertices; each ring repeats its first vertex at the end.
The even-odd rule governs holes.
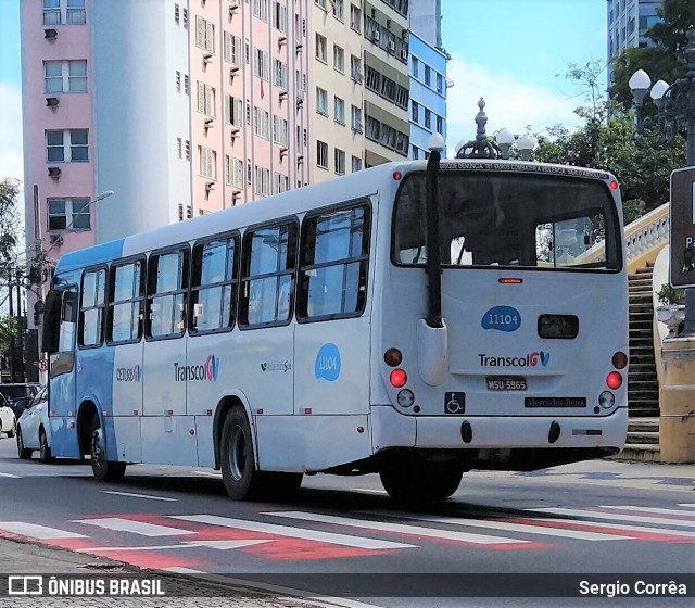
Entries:
POLYGON ((379 471, 389 496, 400 503, 424 503, 448 498, 460 484, 464 471, 457 466, 403 466, 379 471))

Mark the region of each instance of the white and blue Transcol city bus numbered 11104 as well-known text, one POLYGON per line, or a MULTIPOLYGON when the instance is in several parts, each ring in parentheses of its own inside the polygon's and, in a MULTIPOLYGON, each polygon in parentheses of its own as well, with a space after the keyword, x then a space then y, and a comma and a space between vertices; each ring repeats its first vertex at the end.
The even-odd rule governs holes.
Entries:
POLYGON ((380 165, 74 251, 42 343, 53 455, 222 469, 245 499, 378 472, 617 454, 628 421, 620 194, 605 172, 380 165))

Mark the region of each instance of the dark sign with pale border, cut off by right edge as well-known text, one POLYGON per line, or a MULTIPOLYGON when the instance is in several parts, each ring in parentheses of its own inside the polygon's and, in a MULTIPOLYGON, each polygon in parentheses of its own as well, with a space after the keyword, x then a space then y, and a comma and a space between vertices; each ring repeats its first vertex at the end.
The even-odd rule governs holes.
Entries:
POLYGON ((695 288, 695 167, 671 173, 671 271, 674 288, 695 288))

